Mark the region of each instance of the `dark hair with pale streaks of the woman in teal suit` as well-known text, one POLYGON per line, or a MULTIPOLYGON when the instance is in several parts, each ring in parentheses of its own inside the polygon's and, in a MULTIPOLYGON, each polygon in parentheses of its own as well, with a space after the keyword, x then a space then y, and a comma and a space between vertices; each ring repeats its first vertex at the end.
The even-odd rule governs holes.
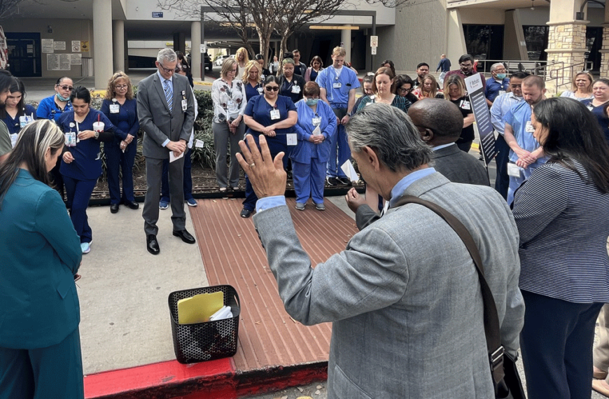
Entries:
POLYGON ((0 207, 23 163, 34 179, 47 185, 50 183, 46 170, 46 151, 50 148, 50 155, 55 155, 64 148, 64 142, 64 134, 52 120, 38 119, 21 130, 15 148, 0 165, 0 207))

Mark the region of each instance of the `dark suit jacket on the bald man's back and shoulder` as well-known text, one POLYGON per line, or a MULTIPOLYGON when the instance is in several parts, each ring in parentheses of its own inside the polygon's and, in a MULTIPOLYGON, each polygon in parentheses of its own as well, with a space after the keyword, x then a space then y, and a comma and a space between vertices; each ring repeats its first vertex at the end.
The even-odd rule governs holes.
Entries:
POLYGON ((459 150, 455 145, 433 151, 432 159, 431 166, 453 183, 491 185, 489 174, 486 173, 482 162, 459 150))

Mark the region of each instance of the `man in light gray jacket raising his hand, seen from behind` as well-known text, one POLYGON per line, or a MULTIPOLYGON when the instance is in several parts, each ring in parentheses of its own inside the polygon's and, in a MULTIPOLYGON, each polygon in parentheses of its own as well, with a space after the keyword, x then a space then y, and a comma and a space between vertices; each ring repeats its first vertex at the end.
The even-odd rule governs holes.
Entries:
POLYGON ((510 209, 495 190, 451 183, 428 167, 430 148, 392 106, 367 106, 346 132, 365 181, 391 207, 314 268, 283 197, 282 154, 273 162, 265 139, 260 155, 248 136, 237 155, 260 198, 253 222, 286 311, 305 325, 332 322, 328 398, 494 398, 470 254, 433 211, 395 204, 402 195, 421 197, 468 228, 496 301, 502 343, 515 356, 524 304, 510 209))

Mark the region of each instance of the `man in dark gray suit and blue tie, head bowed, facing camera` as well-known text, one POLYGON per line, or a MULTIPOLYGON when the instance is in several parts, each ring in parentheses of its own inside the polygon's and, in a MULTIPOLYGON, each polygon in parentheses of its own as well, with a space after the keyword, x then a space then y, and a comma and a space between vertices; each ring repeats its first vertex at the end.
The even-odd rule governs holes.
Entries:
POLYGON ((174 50, 159 51, 155 65, 158 71, 141 80, 137 90, 137 115, 144 130, 142 152, 146 157, 146 200, 144 200, 144 232, 146 248, 153 255, 160 253, 157 240, 159 197, 163 160, 173 153, 181 157, 169 162, 169 195, 172 204, 173 235, 187 244, 195 237, 186 231, 183 192, 183 154, 195 122, 195 102, 188 78, 174 74, 178 57, 174 50))

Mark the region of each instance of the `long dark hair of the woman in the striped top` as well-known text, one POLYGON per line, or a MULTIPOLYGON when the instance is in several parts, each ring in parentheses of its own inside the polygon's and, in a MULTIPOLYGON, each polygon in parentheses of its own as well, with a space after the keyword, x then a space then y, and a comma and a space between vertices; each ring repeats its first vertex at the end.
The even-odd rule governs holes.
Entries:
POLYGON ((574 99, 552 97, 537 104, 533 113, 548 129, 545 141, 540 143, 550 155, 548 162, 557 162, 574 172, 577 169, 573 160, 580 162, 589 183, 602 193, 609 193, 609 145, 586 106, 574 99))

